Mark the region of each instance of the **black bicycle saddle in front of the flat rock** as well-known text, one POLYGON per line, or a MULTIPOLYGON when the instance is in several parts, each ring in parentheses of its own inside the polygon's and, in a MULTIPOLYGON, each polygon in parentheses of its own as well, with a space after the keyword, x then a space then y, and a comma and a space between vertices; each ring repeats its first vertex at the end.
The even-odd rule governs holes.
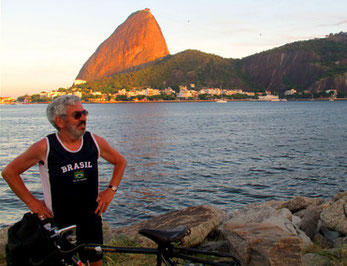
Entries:
POLYGON ((181 240, 186 235, 189 235, 190 229, 187 226, 178 226, 167 230, 142 228, 139 230, 139 233, 153 240, 158 245, 168 245, 172 242, 181 240))

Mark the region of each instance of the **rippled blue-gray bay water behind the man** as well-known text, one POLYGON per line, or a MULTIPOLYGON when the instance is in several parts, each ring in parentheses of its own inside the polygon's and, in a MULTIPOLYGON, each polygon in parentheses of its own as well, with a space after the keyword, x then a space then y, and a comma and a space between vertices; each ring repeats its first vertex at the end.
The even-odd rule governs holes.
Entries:
MULTIPOLYGON (((88 130, 128 160, 104 219, 113 227, 188 206, 230 212, 293 196, 347 189, 347 101, 85 104, 88 130)), ((54 132, 46 105, 0 106, 3 169, 54 132)), ((100 161, 100 186, 112 173, 100 161)), ((42 198, 38 167, 23 178, 42 198)), ((0 227, 26 206, 0 179, 0 227)))

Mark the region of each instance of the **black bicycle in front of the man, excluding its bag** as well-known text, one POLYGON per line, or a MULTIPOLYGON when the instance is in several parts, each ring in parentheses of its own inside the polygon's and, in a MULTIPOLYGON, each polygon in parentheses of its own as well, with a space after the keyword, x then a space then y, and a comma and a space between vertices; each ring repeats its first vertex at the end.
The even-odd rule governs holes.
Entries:
MULTIPOLYGON (((66 235, 68 242, 75 245, 75 228, 69 227, 67 230, 61 229, 63 235, 66 235), (69 233, 72 230, 72 233, 69 233), (71 241, 72 240, 72 241, 71 241)), ((93 250, 97 253, 131 253, 155 255, 156 265, 240 265, 240 262, 232 255, 220 252, 203 251, 196 248, 179 247, 174 243, 183 244, 183 238, 190 234, 187 226, 180 226, 169 230, 158 230, 143 228, 139 233, 157 244, 157 248, 146 247, 117 247, 99 244, 82 244, 75 246, 70 250, 60 250, 64 254, 66 265, 82 265, 76 257, 76 252, 83 248, 93 250), (71 257, 70 257, 71 256, 71 257), (205 256, 205 257, 201 257, 205 256), (77 259, 77 260, 76 260, 77 259), (212 259, 212 260, 211 260, 212 259), (197 263, 197 264, 196 264, 197 263)))

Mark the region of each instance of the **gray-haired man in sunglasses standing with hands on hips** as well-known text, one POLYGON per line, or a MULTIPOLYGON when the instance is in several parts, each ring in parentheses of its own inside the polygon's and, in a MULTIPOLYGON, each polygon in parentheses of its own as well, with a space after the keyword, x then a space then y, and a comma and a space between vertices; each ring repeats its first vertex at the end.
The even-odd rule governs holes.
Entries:
MULTIPOLYGON (((47 107, 57 133, 34 143, 2 172, 13 192, 41 219, 54 217, 59 228, 76 224, 78 243, 102 243, 101 214, 122 179, 126 160, 103 138, 86 131, 88 112, 80 99, 64 95, 47 107), (109 186, 99 192, 98 158, 114 165, 109 186), (20 175, 39 163, 44 201, 35 198, 20 175)), ((102 265, 102 254, 81 252, 90 265, 102 265)))

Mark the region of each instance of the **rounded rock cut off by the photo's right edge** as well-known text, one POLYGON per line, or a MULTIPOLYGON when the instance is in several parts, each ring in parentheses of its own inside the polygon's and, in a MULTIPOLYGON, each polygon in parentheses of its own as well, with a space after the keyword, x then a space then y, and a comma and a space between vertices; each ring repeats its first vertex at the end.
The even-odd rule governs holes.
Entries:
POLYGON ((347 212, 345 208, 347 208, 346 200, 341 198, 324 209, 320 214, 320 219, 328 228, 347 235, 347 212))

